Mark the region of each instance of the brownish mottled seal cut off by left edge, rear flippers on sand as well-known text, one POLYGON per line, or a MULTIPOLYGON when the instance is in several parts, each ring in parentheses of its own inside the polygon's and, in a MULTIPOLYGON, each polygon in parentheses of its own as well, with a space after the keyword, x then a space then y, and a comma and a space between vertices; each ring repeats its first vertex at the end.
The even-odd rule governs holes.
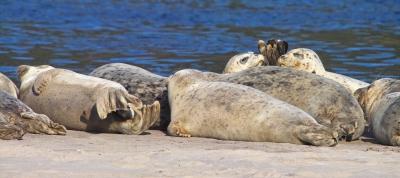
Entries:
POLYGON ((0 91, 0 139, 21 139, 25 133, 65 135, 63 125, 37 114, 20 100, 0 91))

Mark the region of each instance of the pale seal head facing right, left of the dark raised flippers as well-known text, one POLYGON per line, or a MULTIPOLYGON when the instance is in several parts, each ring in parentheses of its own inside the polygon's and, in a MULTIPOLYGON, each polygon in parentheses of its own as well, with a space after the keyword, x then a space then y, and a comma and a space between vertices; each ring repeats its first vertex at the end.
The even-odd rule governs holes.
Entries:
POLYGON ((251 67, 264 66, 265 59, 263 55, 253 52, 241 53, 231 57, 226 63, 223 73, 239 72, 251 67))

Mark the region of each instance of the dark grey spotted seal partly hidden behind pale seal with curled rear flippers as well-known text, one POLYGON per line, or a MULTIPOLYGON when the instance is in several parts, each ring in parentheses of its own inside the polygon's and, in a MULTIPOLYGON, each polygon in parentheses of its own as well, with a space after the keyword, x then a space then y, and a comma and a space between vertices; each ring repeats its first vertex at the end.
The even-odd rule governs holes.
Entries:
POLYGON ((167 77, 123 63, 100 66, 89 75, 121 84, 128 90, 129 94, 138 97, 144 104, 151 104, 155 101, 160 102, 160 120, 157 120, 151 129, 167 128, 170 121, 167 77))

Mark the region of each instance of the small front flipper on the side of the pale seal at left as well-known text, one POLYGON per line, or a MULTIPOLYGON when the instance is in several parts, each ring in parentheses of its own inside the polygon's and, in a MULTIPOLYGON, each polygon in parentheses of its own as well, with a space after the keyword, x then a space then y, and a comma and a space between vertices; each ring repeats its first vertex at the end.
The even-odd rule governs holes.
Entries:
POLYGON ((43 72, 39 74, 33 83, 32 92, 36 95, 40 95, 43 91, 46 90, 48 83, 56 77, 62 69, 51 69, 49 71, 43 72))

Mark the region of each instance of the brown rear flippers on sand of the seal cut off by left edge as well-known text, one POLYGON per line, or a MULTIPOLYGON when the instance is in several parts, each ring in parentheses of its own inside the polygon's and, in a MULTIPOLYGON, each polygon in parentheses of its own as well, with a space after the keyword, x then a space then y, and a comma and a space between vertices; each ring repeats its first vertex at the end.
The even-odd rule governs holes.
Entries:
POLYGON ((67 129, 63 125, 53 122, 46 115, 29 111, 21 113, 21 117, 23 118, 21 125, 29 133, 48 135, 65 135, 67 133, 67 129))

